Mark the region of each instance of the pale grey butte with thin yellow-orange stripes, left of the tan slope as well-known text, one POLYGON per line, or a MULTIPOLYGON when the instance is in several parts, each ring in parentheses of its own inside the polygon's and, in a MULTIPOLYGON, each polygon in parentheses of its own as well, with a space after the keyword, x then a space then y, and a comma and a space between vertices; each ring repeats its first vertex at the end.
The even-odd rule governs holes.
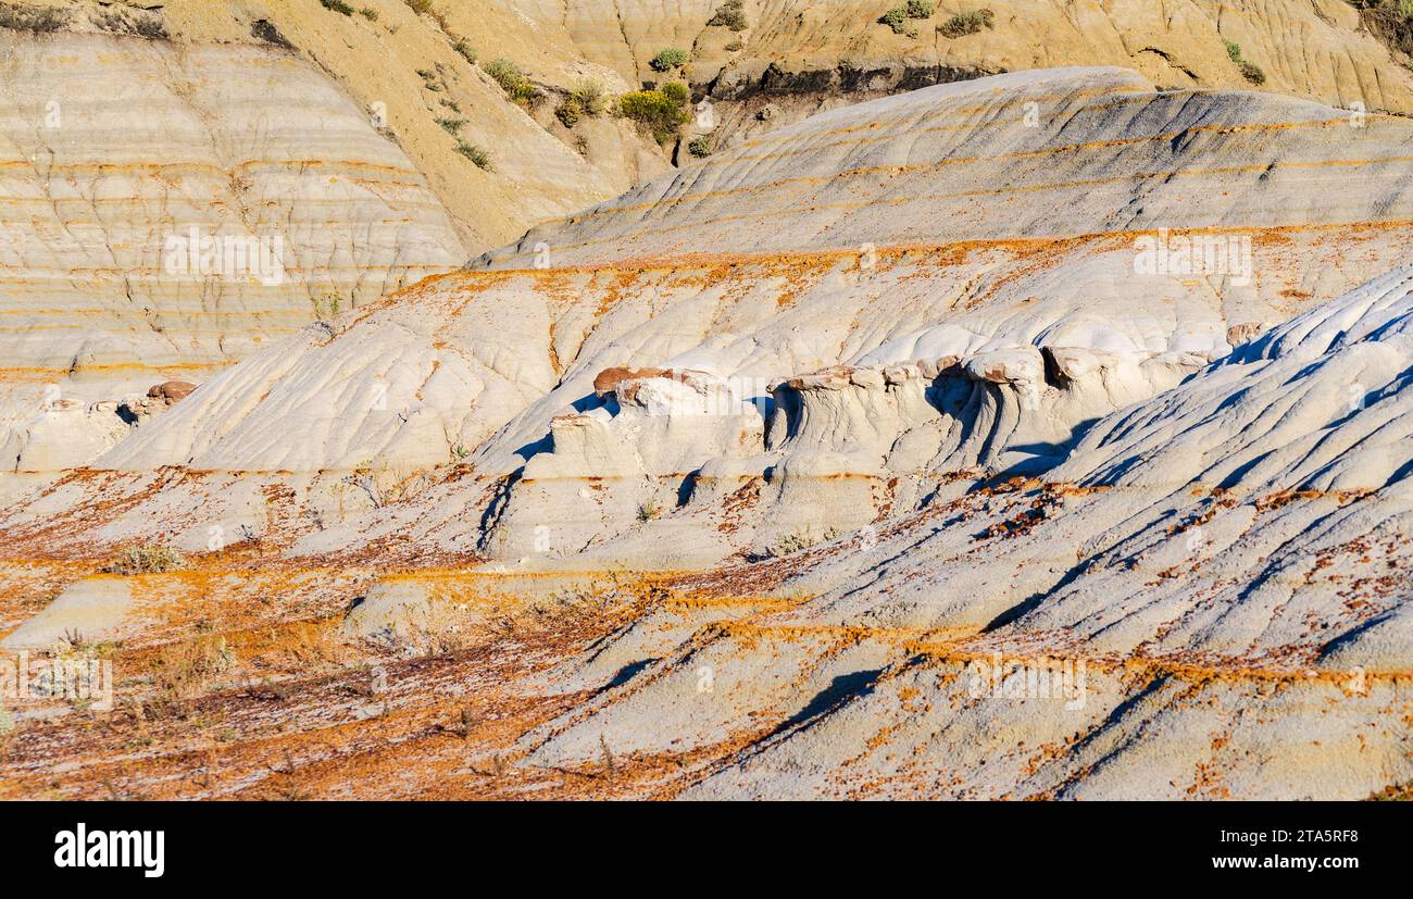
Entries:
POLYGON ((92 459, 123 431, 93 403, 462 262, 407 155, 287 52, 10 35, 0 65, 11 471, 92 459))

